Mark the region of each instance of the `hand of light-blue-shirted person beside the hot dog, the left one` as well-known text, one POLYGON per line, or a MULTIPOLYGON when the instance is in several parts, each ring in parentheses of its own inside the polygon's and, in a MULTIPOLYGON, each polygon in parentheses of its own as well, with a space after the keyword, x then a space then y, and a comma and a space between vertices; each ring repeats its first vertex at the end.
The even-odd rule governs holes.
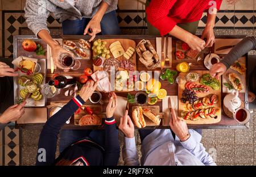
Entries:
POLYGON ((134 137, 134 125, 131 117, 128 115, 128 110, 125 111, 125 116, 121 117, 118 127, 127 138, 134 137))

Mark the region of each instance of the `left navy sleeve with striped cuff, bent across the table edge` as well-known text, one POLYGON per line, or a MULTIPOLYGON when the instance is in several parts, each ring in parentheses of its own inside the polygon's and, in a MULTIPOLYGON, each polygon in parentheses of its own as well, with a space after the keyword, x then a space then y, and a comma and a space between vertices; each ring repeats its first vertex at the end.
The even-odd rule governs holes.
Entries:
POLYGON ((69 117, 84 103, 84 100, 78 95, 47 120, 39 137, 36 165, 52 165, 55 162, 59 131, 69 117))

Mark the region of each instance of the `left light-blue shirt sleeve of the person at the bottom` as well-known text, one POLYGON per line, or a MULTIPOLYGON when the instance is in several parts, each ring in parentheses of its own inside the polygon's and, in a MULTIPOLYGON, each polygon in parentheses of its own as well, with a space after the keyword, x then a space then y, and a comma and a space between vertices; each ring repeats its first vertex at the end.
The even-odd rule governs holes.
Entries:
POLYGON ((124 138, 123 144, 123 161, 126 166, 139 165, 139 158, 137 155, 137 149, 135 144, 135 137, 124 138))

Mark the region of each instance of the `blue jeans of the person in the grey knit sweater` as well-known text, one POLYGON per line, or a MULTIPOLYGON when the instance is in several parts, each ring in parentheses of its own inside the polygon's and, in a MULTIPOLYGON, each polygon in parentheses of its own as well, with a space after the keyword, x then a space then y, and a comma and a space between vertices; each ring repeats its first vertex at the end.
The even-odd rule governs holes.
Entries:
MULTIPOLYGON (((84 29, 90 22, 89 18, 77 20, 65 20, 62 22, 63 35, 84 35, 84 29)), ((118 26, 117 16, 115 11, 108 12, 101 19, 101 34, 102 35, 119 35, 121 34, 118 26)))

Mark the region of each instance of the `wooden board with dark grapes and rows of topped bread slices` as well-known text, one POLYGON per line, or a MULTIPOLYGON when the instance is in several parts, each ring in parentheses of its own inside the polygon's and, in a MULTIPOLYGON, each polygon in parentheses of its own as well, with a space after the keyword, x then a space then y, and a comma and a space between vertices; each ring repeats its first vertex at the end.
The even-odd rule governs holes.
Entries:
MULTIPOLYGON (((207 70, 193 70, 200 77, 209 73, 207 70)), ((185 77, 187 73, 180 73, 185 77)), ((219 81, 221 83, 221 81, 219 81)), ((212 87, 205 87, 199 81, 192 83, 193 87, 204 87, 206 91, 197 92, 197 100, 192 103, 181 101, 185 88, 189 87, 188 82, 178 87, 178 114, 187 122, 187 124, 214 124, 221 120, 221 87, 213 90, 212 87), (196 86, 195 86, 196 85, 196 86), (188 115, 188 116, 187 116, 188 115), (187 116, 187 117, 186 117, 187 116), (195 117, 195 118, 194 118, 195 117)), ((193 88, 192 88, 193 90, 193 88)))

